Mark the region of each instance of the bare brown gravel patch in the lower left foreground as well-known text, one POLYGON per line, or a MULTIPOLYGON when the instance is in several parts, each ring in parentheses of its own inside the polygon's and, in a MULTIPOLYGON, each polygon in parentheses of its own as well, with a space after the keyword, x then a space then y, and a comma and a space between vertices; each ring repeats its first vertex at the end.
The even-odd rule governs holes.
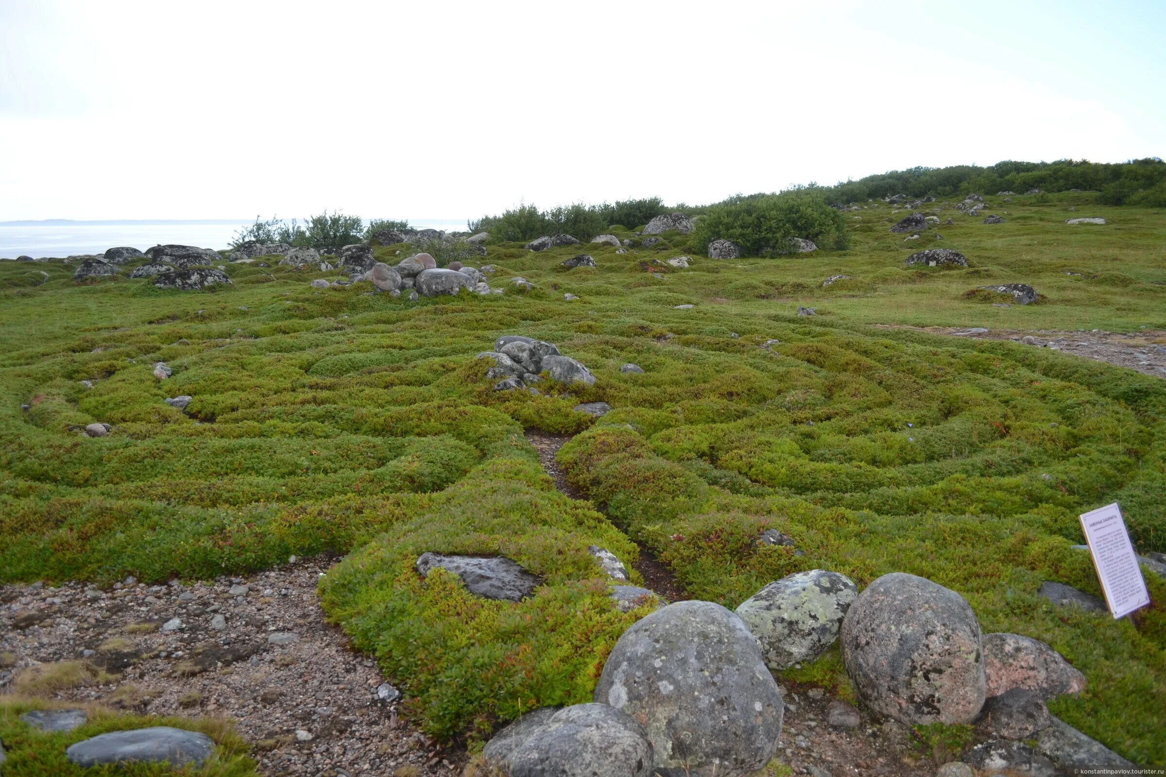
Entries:
POLYGON ((55 699, 226 718, 265 775, 459 774, 464 755, 399 719, 375 664, 324 622, 316 581, 335 561, 192 585, 0 586, 0 692, 27 666, 84 659, 117 679, 55 699))

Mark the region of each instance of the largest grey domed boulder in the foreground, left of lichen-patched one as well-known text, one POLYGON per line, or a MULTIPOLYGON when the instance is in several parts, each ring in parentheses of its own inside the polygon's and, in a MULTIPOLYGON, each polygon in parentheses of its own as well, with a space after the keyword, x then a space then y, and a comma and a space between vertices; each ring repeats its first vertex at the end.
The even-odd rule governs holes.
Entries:
POLYGON ((663 777, 735 777, 766 765, 781 736, 781 692, 739 617, 682 601, 619 637, 595 700, 638 720, 663 777))

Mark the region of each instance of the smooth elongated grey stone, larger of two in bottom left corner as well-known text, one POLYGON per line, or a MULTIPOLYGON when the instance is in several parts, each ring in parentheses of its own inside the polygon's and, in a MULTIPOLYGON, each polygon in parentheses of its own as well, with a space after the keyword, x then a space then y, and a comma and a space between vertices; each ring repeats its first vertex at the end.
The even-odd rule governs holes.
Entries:
POLYGON ((71 744, 65 750, 65 757, 83 768, 161 761, 169 761, 171 767, 202 767, 212 753, 215 742, 205 734, 155 726, 98 734, 71 744))

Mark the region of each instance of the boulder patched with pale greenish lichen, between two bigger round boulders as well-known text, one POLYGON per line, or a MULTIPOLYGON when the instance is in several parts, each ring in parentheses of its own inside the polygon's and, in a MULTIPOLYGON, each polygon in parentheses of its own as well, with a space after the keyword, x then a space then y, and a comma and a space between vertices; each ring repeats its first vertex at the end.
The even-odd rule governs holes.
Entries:
POLYGON ((765 586, 737 607, 770 669, 814 661, 838 638, 854 581, 837 572, 798 572, 765 586))

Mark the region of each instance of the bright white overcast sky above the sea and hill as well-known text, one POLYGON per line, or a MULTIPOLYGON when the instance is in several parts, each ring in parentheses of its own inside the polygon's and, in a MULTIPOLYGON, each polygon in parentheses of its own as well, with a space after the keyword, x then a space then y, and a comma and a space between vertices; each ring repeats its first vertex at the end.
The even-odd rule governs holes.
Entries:
POLYGON ((704 203, 1166 141, 1164 2, 0 0, 0 220, 704 203))

